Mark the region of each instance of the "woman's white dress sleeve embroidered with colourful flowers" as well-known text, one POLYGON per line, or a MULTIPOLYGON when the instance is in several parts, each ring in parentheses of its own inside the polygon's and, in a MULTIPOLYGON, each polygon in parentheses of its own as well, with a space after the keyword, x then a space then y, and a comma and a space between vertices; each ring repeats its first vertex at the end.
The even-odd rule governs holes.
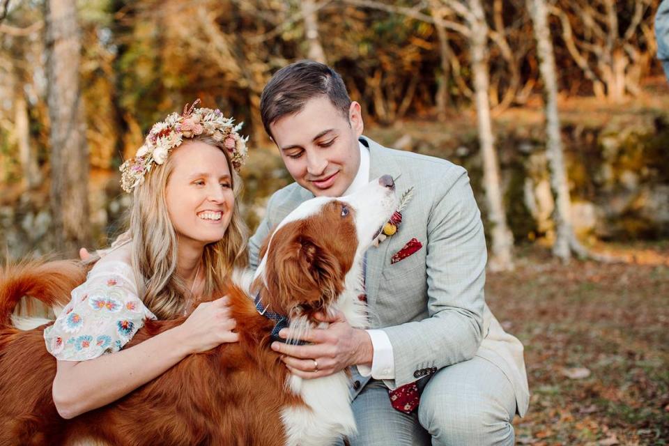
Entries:
POLYGON ((121 350, 144 320, 155 319, 137 295, 132 268, 121 260, 98 261, 72 300, 44 330, 47 350, 59 360, 84 361, 121 350))

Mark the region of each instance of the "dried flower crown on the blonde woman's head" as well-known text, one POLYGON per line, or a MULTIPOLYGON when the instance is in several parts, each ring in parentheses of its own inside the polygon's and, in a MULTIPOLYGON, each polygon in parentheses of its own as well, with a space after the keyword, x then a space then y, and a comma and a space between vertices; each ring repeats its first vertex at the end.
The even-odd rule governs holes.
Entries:
POLYGON ((153 125, 144 145, 133 158, 121 164, 121 187, 125 192, 130 193, 144 183, 144 176, 151 172, 153 164, 163 164, 169 151, 180 146, 184 138, 199 134, 222 141, 233 169, 239 171, 248 156, 246 141, 249 137, 241 137, 238 133, 243 123, 234 125, 233 118, 226 118, 219 109, 195 108, 199 102, 196 100, 190 107, 186 104, 182 114, 172 113, 153 125))

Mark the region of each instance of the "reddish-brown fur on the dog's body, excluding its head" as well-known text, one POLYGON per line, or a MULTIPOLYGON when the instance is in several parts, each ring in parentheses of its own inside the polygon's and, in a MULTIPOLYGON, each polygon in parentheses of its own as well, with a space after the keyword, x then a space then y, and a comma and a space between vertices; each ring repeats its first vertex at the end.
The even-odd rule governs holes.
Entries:
MULTIPOLYGON (((52 277, 48 267, 32 277, 24 268, 24 275, 9 279, 45 284, 52 277)), ((283 391, 286 367, 267 345, 272 323, 238 289, 228 295, 239 343, 190 355, 126 397, 72 420, 63 420, 52 401, 56 360, 45 348, 43 327, 2 328, 0 444, 93 437, 115 445, 282 445, 282 431, 265 428, 281 425, 278 408, 300 401, 283 391)), ((180 323, 183 318, 147 321, 128 346, 180 323)))

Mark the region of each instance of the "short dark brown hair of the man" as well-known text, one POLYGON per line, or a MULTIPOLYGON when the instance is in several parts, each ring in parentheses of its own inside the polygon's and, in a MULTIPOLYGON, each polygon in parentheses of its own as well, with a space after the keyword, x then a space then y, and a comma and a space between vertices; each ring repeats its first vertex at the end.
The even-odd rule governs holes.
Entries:
POLYGON ((341 76, 323 63, 299 61, 275 72, 260 97, 260 115, 270 137, 270 124, 305 107, 308 100, 328 96, 334 108, 348 119, 351 98, 341 76))

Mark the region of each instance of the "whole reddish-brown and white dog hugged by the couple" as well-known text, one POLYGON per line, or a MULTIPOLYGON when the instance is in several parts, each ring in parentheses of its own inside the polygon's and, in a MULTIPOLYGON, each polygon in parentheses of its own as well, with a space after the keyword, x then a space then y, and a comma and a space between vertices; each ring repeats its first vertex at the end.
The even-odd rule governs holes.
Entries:
MULTIPOLYGON (((397 206, 390 176, 339 199, 305 201, 266 241, 252 290, 263 312, 289 316, 307 330, 316 312, 344 312, 364 328, 365 250, 397 206)), ((355 432, 348 378, 302 380, 269 348, 275 322, 259 314, 237 286, 229 295, 240 341, 190 355, 122 399, 63 420, 52 401, 56 360, 45 325, 19 330, 10 315, 24 295, 64 305, 84 279, 74 262, 24 263, 0 272, 0 446, 60 445, 329 445, 355 432)), ((183 323, 146 321, 128 346, 183 323)))

